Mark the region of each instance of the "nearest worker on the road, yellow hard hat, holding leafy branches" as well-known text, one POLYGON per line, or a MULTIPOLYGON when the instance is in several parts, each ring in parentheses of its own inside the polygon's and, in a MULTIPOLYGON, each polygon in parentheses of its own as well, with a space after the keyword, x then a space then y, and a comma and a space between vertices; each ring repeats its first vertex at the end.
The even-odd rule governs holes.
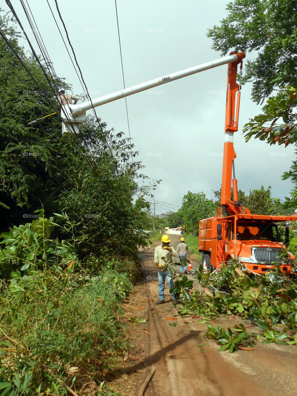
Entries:
POLYGON ((159 299, 158 301, 156 301, 156 304, 165 303, 164 289, 165 289, 165 278, 167 278, 172 305, 177 305, 177 301, 174 298, 174 293, 173 293, 174 284, 173 284, 172 276, 167 271, 163 271, 163 267, 168 261, 172 260, 172 257, 177 257, 178 255, 172 246, 169 247, 170 239, 168 235, 163 235, 161 241, 162 241, 162 245, 156 247, 155 255, 154 255, 155 265, 156 267, 158 267, 158 281, 159 281, 159 299), (164 261, 162 257, 164 257, 166 261, 164 261))

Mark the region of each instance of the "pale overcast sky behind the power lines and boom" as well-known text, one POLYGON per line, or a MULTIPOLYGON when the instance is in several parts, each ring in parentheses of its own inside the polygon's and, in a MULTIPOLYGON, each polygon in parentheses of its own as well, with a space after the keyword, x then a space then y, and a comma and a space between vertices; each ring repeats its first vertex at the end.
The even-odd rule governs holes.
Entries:
MULTIPOLYGON (((20 2, 12 3, 37 51, 20 2)), ((82 93, 46 0, 28 3, 57 75, 73 85, 74 95, 82 93)), ((55 2, 49 3, 57 15, 55 2)), ((115 2, 64 0, 58 4, 91 98, 123 89, 115 2)), ((224 0, 117 0, 126 88, 219 59, 221 54, 211 49, 212 40, 206 34, 227 15, 225 4, 224 0)), ((25 39, 21 44, 28 48, 25 39)), ((162 179, 154 193, 159 202, 156 214, 176 211, 189 190, 214 198, 212 189, 220 188, 226 84, 224 65, 127 98, 130 134, 146 166, 143 173, 162 179)), ((125 99, 97 107, 96 112, 109 129, 129 136, 125 99)), ((294 149, 270 147, 254 139, 245 143, 242 127, 259 113, 261 107, 251 101, 247 84, 242 88, 239 131, 234 134, 238 188, 248 193, 270 185, 272 196, 284 200, 291 183, 282 181, 281 175, 295 159, 294 149)))

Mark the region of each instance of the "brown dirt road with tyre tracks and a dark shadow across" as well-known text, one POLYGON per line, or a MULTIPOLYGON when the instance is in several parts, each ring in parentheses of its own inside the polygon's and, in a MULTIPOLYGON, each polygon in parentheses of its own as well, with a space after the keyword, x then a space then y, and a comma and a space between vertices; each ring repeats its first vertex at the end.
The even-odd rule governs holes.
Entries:
MULTIPOLYGON (((170 238, 176 248, 179 238, 175 235, 170 238)), ((125 304, 126 319, 133 316, 148 318, 145 324, 131 324, 128 330, 130 343, 135 346, 131 359, 136 360, 131 361, 130 366, 135 381, 134 394, 138 395, 152 366, 156 367, 156 372, 145 395, 297 394, 297 346, 263 344, 258 341, 253 351, 240 350, 232 354, 228 351, 219 352, 219 345, 204 337, 207 324, 197 324, 201 318, 181 318, 177 315, 180 306, 175 308, 169 303, 167 284, 166 303, 155 305, 158 280, 154 248, 158 244, 141 252, 143 280, 129 296, 129 303, 125 304), (174 320, 166 320, 173 316, 174 320), (176 326, 169 326, 173 322, 176 326)), ((192 265, 194 269, 198 268, 194 260, 192 265)), ((254 329, 253 324, 234 316, 222 316, 208 323, 215 327, 221 324, 225 328, 244 323, 246 327, 254 329)))

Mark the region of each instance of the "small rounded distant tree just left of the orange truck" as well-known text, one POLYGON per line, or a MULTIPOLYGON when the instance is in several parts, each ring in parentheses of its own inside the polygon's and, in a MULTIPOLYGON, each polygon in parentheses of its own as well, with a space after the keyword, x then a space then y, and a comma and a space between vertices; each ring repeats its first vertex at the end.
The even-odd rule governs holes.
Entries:
POLYGON ((178 215, 183 219, 187 232, 198 233, 199 221, 213 215, 215 204, 206 198, 204 192, 193 193, 188 191, 183 197, 182 207, 178 215))

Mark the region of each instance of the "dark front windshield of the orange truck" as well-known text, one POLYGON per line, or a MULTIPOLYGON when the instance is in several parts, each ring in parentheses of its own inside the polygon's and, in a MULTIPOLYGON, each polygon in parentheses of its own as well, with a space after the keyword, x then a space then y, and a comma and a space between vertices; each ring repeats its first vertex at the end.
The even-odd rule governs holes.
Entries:
POLYGON ((262 240, 280 242, 276 224, 237 224, 236 239, 240 241, 262 240))

